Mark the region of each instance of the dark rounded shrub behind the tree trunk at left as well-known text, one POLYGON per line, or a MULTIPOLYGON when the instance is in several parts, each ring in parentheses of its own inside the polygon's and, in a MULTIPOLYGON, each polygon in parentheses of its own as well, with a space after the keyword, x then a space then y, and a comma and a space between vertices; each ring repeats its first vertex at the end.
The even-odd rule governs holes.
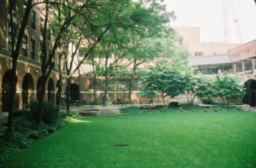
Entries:
MULTIPOLYGON (((39 103, 38 102, 31 102, 30 104, 31 109, 31 117, 36 118, 38 109, 39 109, 39 103)), ((43 102, 43 114, 42 114, 42 121, 44 123, 56 123, 56 121, 59 118, 59 107, 57 107, 53 102, 46 101, 43 102)))

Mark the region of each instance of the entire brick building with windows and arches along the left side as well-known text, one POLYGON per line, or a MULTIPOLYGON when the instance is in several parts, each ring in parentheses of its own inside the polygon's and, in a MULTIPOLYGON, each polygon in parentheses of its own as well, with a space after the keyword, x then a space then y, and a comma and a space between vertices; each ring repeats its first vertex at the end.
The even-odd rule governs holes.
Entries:
MULTIPOLYGON (((26 2, 13 1, 15 8, 12 12, 14 32, 17 37, 26 2)), ((12 68, 12 38, 10 28, 10 15, 8 14, 9 1, 0 1, 0 113, 7 111, 10 96, 10 72, 12 68)), ((42 56, 42 24, 44 15, 39 10, 39 5, 31 9, 29 23, 26 26, 20 48, 17 66, 17 91, 15 95, 15 109, 21 109, 31 100, 37 99, 41 87, 41 57, 42 56)), ((48 33, 48 47, 52 47, 54 37, 48 33)), ((56 101, 56 83, 59 79, 60 59, 58 53, 54 58, 53 71, 46 85, 45 100, 56 101)))

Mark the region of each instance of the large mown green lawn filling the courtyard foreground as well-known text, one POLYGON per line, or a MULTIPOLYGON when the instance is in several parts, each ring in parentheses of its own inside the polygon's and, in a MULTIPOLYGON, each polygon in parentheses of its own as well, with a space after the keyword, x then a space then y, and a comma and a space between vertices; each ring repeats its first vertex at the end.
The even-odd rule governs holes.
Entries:
POLYGON ((256 167, 256 112, 83 118, 20 150, 8 167, 256 167))

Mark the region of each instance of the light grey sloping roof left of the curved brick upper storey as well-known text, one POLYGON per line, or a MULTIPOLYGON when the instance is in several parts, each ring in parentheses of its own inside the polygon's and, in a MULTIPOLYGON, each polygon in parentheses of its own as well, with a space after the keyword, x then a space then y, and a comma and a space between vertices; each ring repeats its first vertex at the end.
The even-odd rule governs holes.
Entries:
POLYGON ((227 64, 233 63, 228 54, 214 56, 198 56, 188 58, 189 65, 211 65, 211 64, 227 64))

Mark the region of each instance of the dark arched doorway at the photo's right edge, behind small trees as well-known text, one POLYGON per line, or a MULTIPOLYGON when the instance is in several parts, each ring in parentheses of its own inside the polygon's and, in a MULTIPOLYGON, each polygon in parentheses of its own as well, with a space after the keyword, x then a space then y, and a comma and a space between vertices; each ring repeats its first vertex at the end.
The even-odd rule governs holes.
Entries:
POLYGON ((243 103, 256 106, 256 80, 247 80, 244 83, 244 88, 246 88, 246 94, 243 103))

